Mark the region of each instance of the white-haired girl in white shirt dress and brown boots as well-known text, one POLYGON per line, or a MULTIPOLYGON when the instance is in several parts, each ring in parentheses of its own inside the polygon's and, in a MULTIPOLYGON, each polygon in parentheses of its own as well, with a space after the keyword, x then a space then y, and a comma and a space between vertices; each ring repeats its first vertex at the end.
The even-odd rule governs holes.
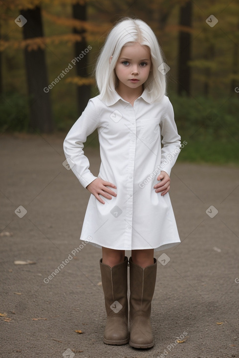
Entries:
POLYGON ((163 68, 152 29, 141 20, 118 22, 96 65, 100 95, 89 100, 64 141, 72 171, 91 193, 80 239, 102 248, 107 344, 154 345, 150 316, 157 261, 153 253, 180 242, 168 194, 180 136, 165 95, 163 68), (96 128, 101 156, 98 177, 90 172, 83 151, 83 143, 96 128), (131 250, 130 335, 125 250, 131 250))

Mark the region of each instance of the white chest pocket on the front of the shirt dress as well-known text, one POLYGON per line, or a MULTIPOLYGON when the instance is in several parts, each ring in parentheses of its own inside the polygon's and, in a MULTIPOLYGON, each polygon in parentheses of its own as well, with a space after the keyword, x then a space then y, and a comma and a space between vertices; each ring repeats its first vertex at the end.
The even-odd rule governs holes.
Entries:
POLYGON ((158 118, 140 119, 140 139, 152 143, 159 137, 159 133, 160 128, 158 118))

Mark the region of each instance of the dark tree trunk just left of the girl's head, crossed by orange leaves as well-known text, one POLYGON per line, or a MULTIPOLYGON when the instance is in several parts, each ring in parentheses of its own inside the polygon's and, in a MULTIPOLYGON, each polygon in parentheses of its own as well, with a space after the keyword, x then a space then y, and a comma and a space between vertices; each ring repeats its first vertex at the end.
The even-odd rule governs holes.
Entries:
MULTIPOLYGON (((87 20, 87 6, 86 4, 74 4, 72 5, 72 13, 73 18, 77 20, 87 20)), ((77 76, 80 77, 88 77, 87 64, 88 64, 88 49, 87 49, 87 41, 84 37, 85 30, 78 30, 73 28, 74 34, 83 35, 83 39, 81 41, 75 42, 75 58, 78 58, 76 61, 76 73, 77 76), (87 53, 86 50, 87 49, 87 53)), ((77 107, 79 116, 82 114, 84 109, 86 108, 87 102, 90 99, 90 85, 82 85, 77 86, 77 107)))

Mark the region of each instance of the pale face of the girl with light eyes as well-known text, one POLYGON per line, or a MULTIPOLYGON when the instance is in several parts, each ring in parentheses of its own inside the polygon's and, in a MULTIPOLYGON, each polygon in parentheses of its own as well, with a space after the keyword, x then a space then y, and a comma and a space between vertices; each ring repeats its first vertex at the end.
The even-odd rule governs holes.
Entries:
POLYGON ((118 86, 123 89, 143 88, 151 69, 151 55, 147 46, 135 42, 124 46, 115 66, 115 73, 119 80, 118 86))

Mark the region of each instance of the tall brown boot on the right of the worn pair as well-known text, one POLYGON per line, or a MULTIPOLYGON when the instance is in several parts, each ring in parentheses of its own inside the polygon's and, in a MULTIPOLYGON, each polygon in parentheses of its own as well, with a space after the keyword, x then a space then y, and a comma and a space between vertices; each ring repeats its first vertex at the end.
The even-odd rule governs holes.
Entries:
POLYGON ((151 348, 154 345, 151 326, 151 301, 154 293, 157 260, 145 268, 130 258, 130 346, 151 348))

